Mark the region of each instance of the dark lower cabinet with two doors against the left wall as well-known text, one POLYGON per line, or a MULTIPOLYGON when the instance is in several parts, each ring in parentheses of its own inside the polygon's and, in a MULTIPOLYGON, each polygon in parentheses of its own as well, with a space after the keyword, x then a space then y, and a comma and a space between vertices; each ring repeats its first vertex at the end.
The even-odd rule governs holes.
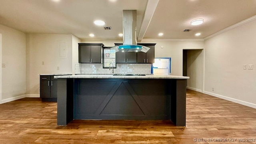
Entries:
POLYGON ((57 102, 57 79, 53 75, 40 75, 40 98, 57 102))

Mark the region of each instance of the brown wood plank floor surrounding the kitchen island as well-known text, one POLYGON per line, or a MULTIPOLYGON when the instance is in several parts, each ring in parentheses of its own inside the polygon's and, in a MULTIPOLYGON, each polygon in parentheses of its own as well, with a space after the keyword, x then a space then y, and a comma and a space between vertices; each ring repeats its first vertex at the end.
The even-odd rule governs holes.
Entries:
POLYGON ((256 144, 256 109, 192 90, 186 100, 186 127, 162 120, 57 126, 56 102, 23 98, 0 104, 0 144, 256 144))

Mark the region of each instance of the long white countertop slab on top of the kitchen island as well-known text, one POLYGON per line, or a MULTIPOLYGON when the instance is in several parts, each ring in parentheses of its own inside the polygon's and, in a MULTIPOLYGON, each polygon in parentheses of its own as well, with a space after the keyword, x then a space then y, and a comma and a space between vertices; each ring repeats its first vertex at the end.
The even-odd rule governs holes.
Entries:
POLYGON ((188 76, 113 76, 112 74, 81 74, 81 75, 66 75, 66 76, 54 76, 54 78, 164 78, 164 79, 188 79, 188 76))

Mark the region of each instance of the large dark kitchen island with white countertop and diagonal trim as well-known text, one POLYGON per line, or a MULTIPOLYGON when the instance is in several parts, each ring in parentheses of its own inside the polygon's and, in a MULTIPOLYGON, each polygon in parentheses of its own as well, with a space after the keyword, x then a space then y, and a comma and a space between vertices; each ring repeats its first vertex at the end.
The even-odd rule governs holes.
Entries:
POLYGON ((71 75, 58 78, 57 124, 72 120, 172 120, 186 126, 184 76, 71 75))

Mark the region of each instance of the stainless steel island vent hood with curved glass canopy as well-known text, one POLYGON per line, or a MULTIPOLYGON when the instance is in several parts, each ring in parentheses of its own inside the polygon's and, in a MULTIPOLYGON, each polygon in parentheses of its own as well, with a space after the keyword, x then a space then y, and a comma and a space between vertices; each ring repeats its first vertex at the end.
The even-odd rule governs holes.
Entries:
POLYGON ((116 52, 147 52, 150 48, 137 45, 137 10, 123 10, 123 45, 111 48, 116 52))

